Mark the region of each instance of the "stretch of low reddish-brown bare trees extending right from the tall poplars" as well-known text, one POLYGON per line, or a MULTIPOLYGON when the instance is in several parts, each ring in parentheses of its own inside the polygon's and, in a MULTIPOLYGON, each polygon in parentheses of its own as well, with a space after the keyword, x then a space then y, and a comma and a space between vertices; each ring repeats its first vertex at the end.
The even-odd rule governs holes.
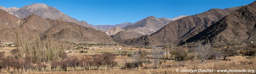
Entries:
POLYGON ((93 56, 84 56, 83 58, 70 56, 64 60, 51 62, 52 69, 56 70, 57 67, 60 67, 63 71, 67 71, 67 67, 76 71, 78 66, 83 67, 84 70, 89 70, 90 66, 96 66, 96 69, 99 70, 101 65, 106 65, 108 69, 114 68, 117 65, 116 54, 95 54, 93 56))

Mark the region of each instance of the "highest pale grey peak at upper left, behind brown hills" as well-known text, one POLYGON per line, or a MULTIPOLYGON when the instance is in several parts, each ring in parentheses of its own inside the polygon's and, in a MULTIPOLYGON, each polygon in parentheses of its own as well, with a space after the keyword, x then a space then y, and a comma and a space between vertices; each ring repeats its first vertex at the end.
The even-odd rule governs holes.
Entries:
MULTIPOLYGON (((1 8, 4 8, 4 7, 1 6, 1 8)), ((10 14, 12 14, 16 17, 19 17, 19 18, 25 18, 31 14, 36 14, 45 19, 50 18, 52 20, 56 20, 56 19, 61 18, 67 22, 73 22, 73 23, 80 24, 82 26, 92 27, 92 25, 86 23, 85 21, 79 21, 72 17, 69 17, 68 15, 59 11, 55 7, 48 6, 44 3, 34 3, 31 5, 24 6, 20 9, 13 7, 13 8, 8 8, 8 9, 3 9, 3 10, 5 10, 5 11, 9 12, 10 14)))

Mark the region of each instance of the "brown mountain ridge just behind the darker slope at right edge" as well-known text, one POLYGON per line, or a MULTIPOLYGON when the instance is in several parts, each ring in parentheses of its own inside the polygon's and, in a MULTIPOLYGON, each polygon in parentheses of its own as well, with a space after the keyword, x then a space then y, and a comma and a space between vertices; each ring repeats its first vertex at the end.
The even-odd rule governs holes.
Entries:
MULTIPOLYGON (((200 14, 187 16, 179 20, 168 23, 160 30, 152 33, 150 38, 154 38, 161 43, 180 43, 187 40, 190 37, 198 34, 208 26, 213 25, 221 18, 230 14, 231 12, 239 9, 240 7, 228 8, 228 9, 210 9, 200 14)), ((148 38, 149 39, 149 38, 148 38)), ((154 40, 152 39, 152 40, 154 40)), ((134 39, 138 40, 138 39, 134 39)), ((149 41, 149 40, 147 40, 149 41)), ((144 42, 140 40, 140 42, 144 42)), ((127 42, 125 42, 127 43, 127 42)), ((134 43, 136 44, 136 43, 134 43)), ((143 43, 140 43, 143 44, 143 43)), ((145 44, 145 43, 144 43, 145 44)), ((154 43, 149 43, 154 44, 154 43)))

